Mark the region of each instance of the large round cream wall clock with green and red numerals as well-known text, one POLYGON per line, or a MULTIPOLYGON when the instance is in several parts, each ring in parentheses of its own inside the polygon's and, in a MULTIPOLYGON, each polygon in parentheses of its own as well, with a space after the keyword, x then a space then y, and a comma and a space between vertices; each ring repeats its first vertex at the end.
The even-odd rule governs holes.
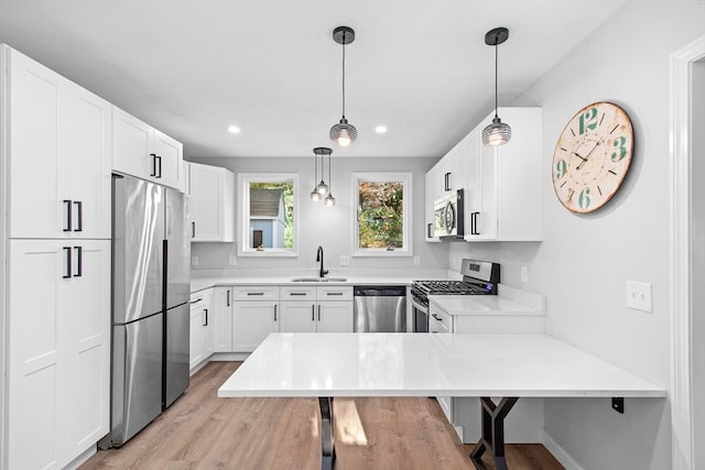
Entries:
POLYGON ((553 189, 573 212, 592 212, 617 193, 631 163, 633 129, 611 102, 595 102, 575 113, 553 153, 553 189))

